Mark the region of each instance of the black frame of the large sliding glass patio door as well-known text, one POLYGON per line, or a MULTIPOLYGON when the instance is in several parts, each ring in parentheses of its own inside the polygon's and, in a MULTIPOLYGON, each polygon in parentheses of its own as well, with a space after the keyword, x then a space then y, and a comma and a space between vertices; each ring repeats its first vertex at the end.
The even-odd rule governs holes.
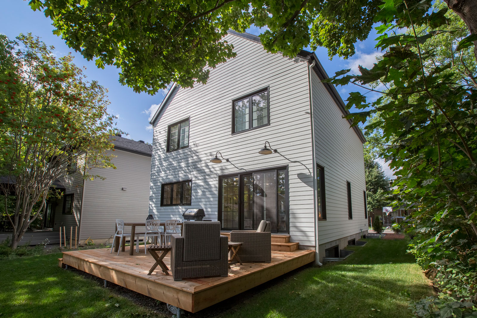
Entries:
MULTIPOLYGON (((286 232, 285 231, 277 231, 272 233, 290 233, 290 178, 289 178, 289 171, 288 171, 288 165, 286 166, 275 166, 275 167, 270 167, 270 168, 263 168, 263 169, 256 169, 256 170, 250 170, 250 171, 245 171, 245 172, 237 172, 235 174, 221 174, 218 176, 218 205, 217 205, 217 219, 222 224, 222 179, 225 178, 230 178, 237 176, 239 178, 239 229, 244 227, 244 220, 243 216, 241 215, 241 210, 242 210, 242 205, 244 204, 243 202, 243 186, 241 185, 241 176, 242 175, 248 175, 248 174, 254 174, 254 173, 263 173, 263 172, 269 172, 269 171, 285 171, 285 208, 286 208, 286 213, 287 213, 287 221, 286 221, 286 228, 288 229, 286 232), (241 199, 240 199, 241 198, 241 199)), ((278 175, 278 174, 277 174, 278 175)), ((277 196, 277 201, 278 201, 278 196, 277 196)), ((221 230, 222 231, 233 231, 237 230, 236 228, 225 228, 222 227, 221 225, 221 230)))

